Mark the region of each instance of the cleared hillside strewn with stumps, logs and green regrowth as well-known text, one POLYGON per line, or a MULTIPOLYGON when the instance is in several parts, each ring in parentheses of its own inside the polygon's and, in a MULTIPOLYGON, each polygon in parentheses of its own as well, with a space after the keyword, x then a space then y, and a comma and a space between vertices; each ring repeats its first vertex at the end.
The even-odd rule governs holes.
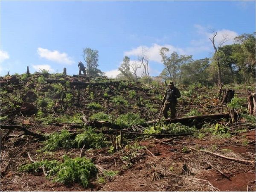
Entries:
POLYGON ((255 191, 255 85, 177 87, 1 77, 1 191, 255 191))

